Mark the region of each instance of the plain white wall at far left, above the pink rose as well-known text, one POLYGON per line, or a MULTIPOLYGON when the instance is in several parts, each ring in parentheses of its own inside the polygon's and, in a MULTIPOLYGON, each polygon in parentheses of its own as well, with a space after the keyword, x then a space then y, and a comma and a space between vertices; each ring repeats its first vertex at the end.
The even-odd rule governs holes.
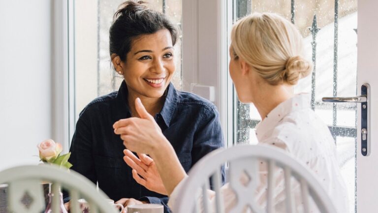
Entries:
POLYGON ((51 0, 0 0, 0 171, 51 137, 51 0))

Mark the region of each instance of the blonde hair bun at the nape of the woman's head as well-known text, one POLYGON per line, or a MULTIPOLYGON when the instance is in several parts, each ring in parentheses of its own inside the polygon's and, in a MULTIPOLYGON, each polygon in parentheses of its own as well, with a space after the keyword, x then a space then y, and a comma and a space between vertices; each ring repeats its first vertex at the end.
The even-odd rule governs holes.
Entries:
POLYGON ((296 84, 299 79, 306 77, 312 71, 313 65, 301 56, 294 56, 286 61, 283 79, 289 84, 296 84))

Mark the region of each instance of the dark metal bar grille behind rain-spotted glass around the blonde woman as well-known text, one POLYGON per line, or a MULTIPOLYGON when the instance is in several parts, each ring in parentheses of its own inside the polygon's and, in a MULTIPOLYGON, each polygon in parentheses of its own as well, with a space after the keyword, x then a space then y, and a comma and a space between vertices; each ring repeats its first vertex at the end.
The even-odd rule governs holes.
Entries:
MULTIPOLYGON (((236 18, 244 17, 251 13, 251 0, 234 0, 234 6, 236 7, 236 18)), ((295 0, 291 0, 291 22, 295 24, 295 0)), ((337 72, 338 72, 338 28, 339 28, 339 0, 335 0, 335 16, 334 16, 334 64, 333 64, 333 96, 337 96, 337 72)), ((313 41, 312 44, 312 60, 314 63, 314 70, 312 73, 312 80, 311 80, 311 108, 315 110, 316 108, 329 108, 332 106, 332 125, 329 126, 329 130, 336 142, 336 137, 350 137, 355 138, 357 135, 356 127, 344 127, 344 126, 337 126, 337 109, 341 106, 337 106, 336 104, 325 104, 319 103, 315 101, 315 74, 316 74, 316 36, 319 32, 320 28, 317 27, 316 15, 314 15, 312 27, 309 28, 313 41)), ((357 30, 355 30, 357 33, 357 30)), ((250 105, 242 104, 237 100, 236 93, 234 92, 234 103, 237 103, 237 110, 236 110, 236 122, 234 123, 234 130, 237 133, 236 137, 234 138, 235 143, 243 143, 250 141, 250 134, 249 129, 253 129, 256 127, 257 123, 260 120, 257 119, 249 119, 248 116, 250 115, 250 105)), ((355 105, 350 106, 343 106, 343 110, 355 110, 355 105)), ((356 118, 357 120, 357 118, 356 118)))

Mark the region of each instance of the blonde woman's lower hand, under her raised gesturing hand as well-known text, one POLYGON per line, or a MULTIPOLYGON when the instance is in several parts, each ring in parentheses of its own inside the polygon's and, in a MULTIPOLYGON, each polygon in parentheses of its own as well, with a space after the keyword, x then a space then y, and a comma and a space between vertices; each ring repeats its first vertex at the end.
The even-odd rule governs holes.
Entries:
POLYGON ((139 159, 128 149, 124 150, 124 160, 132 168, 132 177, 135 181, 148 190, 167 195, 167 191, 161 181, 158 169, 152 158, 146 154, 139 154, 139 159), (142 177, 142 178, 141 178, 142 177))

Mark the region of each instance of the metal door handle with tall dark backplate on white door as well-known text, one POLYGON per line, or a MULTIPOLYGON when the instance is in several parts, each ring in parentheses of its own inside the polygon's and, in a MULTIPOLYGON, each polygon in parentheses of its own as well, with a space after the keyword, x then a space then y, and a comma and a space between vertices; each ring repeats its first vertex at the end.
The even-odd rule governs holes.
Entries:
POLYGON ((368 83, 361 86, 361 96, 356 97, 324 97, 323 102, 332 103, 361 103, 361 153, 363 156, 370 154, 370 85, 368 83))

